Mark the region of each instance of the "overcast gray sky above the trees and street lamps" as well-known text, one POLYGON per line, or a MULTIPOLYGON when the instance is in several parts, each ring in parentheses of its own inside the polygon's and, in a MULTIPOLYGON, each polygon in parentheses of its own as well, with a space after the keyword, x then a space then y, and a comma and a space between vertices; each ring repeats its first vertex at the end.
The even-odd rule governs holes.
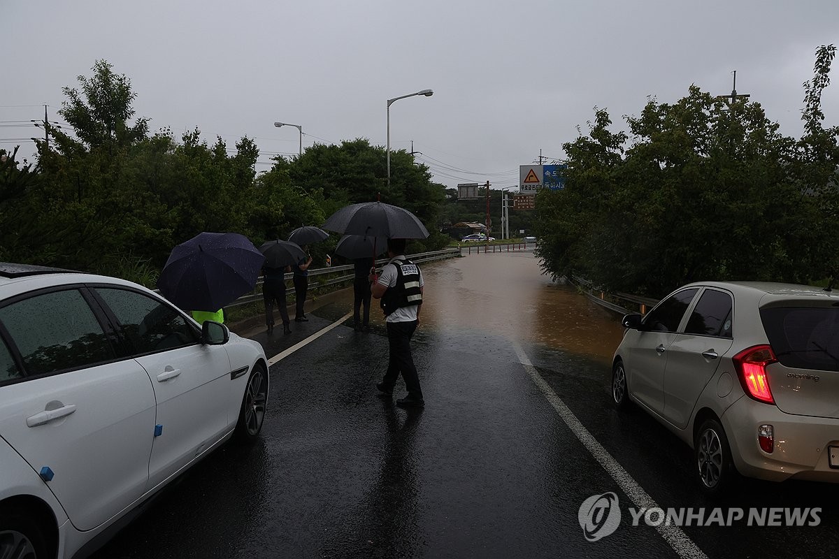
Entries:
MULTIPOLYGON (((153 131, 198 127, 232 148, 276 153, 366 137, 421 152, 435 179, 517 184, 539 150, 562 158, 593 107, 616 128, 648 96, 675 102, 696 84, 751 94, 800 137, 802 82, 816 48, 839 45, 837 0, 73 0, 0 2, 0 147, 39 136, 12 121, 50 120, 97 59, 130 78, 153 131)), ((839 60, 834 66, 839 66, 839 60)), ((823 97, 839 124, 839 69, 823 97)))

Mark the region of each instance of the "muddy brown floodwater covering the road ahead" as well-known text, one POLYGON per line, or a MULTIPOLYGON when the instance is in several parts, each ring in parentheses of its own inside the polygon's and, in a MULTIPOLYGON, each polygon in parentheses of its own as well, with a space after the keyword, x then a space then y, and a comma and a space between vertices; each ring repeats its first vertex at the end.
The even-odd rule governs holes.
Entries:
MULTIPOLYGON (((472 254, 422 266, 423 329, 462 329, 610 359, 620 317, 552 282, 530 251, 472 254)), ((349 290, 352 305, 352 290, 349 290)), ((371 322, 383 323, 373 300, 371 322)))

